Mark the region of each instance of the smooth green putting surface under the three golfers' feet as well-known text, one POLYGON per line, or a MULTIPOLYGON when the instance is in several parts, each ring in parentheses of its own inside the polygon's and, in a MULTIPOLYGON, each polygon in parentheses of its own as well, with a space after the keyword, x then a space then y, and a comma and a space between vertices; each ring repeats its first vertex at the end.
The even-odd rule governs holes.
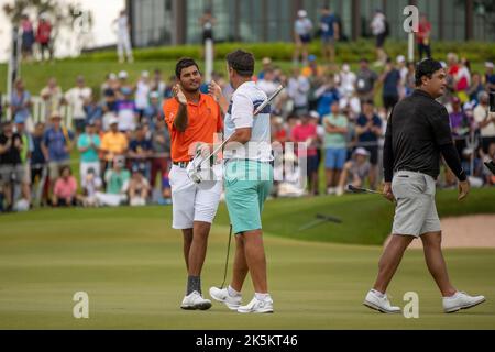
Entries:
MULTIPOLYGON (((446 193, 447 198, 453 195, 446 193)), ((375 199, 344 198, 342 207, 358 209, 375 199)), ((321 197, 311 205, 323 208, 333 199, 321 197)), ((305 240, 297 233, 297 223, 309 206, 307 199, 268 202, 266 228, 275 231, 286 223, 293 227, 294 238, 305 240), (299 217, 295 206, 301 209, 299 217)), ((182 235, 170 229, 170 207, 146 207, 42 209, 1 216, 0 329, 495 328, 495 250, 446 251, 454 284, 487 297, 486 304, 454 315, 442 312, 421 251, 409 250, 389 288, 392 301, 402 307, 406 305, 406 292, 418 293, 419 319, 406 319, 362 306, 376 274, 381 246, 305 242, 271 233, 265 248, 274 315, 239 315, 221 304, 213 304, 209 311, 184 311, 179 309, 186 282, 182 235), (89 319, 73 317, 76 292, 89 295, 89 319)), ((360 218, 363 213, 355 210, 354 222, 360 218)), ((389 220, 387 217, 384 222, 389 220)), ((346 221, 341 224, 342 231, 352 226, 346 221)), ((223 278, 227 224, 222 205, 204 267, 206 294, 223 278)), ((319 229, 323 235, 326 227, 315 231, 319 229)), ((373 232, 373 228, 367 229, 367 233, 373 232)), ((244 300, 252 295, 248 279, 244 300)))

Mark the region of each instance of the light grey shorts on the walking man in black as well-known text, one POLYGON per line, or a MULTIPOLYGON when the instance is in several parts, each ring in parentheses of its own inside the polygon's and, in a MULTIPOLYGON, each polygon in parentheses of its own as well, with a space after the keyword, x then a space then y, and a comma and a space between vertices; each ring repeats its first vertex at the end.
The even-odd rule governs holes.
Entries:
POLYGON ((420 237, 427 232, 441 231, 435 205, 433 177, 415 172, 400 170, 394 175, 392 191, 395 208, 393 234, 420 237))

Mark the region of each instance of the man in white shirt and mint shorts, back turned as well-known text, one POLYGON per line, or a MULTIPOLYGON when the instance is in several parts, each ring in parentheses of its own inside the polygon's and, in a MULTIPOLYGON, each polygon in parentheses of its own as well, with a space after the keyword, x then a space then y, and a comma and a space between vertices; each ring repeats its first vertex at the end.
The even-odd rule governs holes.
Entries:
POLYGON ((256 117, 254 110, 266 100, 251 80, 254 56, 238 50, 227 55, 229 78, 235 89, 224 119, 224 188, 230 221, 235 233, 235 258, 231 284, 211 287, 213 299, 238 312, 273 312, 268 294, 261 213, 273 184, 271 123, 267 106, 256 117), (241 289, 251 274, 254 298, 241 306, 241 289))

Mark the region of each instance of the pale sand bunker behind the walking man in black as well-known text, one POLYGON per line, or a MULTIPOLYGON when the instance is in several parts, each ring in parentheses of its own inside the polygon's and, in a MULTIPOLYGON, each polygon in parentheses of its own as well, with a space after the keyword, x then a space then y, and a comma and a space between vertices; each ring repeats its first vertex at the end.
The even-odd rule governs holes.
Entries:
MULTIPOLYGON (((442 248, 495 248, 495 215, 444 218, 442 223, 442 248)), ((388 238, 384 245, 388 243, 388 238)), ((411 249, 422 249, 421 240, 414 240, 411 249)))

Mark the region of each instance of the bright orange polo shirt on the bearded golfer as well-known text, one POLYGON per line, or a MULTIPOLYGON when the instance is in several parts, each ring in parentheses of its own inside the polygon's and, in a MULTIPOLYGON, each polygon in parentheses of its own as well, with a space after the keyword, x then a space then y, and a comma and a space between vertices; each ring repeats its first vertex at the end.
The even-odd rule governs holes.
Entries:
POLYGON ((211 96, 201 94, 198 103, 187 102, 187 128, 186 131, 179 132, 174 125, 178 109, 179 102, 175 98, 163 102, 165 122, 170 132, 172 161, 188 162, 194 156, 196 143, 216 142, 213 136, 223 130, 223 121, 218 102, 211 96))

